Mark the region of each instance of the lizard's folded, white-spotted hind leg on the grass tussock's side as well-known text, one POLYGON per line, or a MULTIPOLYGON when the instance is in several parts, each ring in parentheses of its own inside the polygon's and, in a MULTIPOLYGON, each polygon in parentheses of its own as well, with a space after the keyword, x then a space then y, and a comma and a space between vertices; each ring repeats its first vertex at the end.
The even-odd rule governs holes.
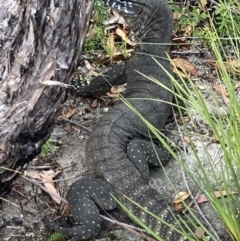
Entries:
POLYGON ((146 181, 150 179, 148 166, 164 166, 171 157, 168 150, 162 144, 156 145, 150 141, 141 139, 132 140, 128 143, 127 155, 146 181))

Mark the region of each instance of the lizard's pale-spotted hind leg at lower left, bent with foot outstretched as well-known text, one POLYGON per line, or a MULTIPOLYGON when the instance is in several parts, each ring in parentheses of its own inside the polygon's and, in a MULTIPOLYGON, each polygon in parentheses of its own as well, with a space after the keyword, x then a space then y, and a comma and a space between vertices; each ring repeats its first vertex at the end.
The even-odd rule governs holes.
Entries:
POLYGON ((116 203, 110 195, 112 192, 111 186, 104 180, 81 178, 71 185, 67 193, 67 200, 78 226, 63 228, 49 219, 45 219, 44 223, 51 230, 71 236, 71 241, 94 238, 101 228, 99 210, 116 208, 116 203))

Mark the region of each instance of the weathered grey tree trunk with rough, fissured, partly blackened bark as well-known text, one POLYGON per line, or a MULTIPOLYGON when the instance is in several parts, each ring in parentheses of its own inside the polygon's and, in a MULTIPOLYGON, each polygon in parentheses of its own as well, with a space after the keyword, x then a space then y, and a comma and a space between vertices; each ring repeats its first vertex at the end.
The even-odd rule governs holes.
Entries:
POLYGON ((0 196, 39 154, 66 99, 94 0, 0 0, 0 196), (50 82, 53 83, 53 82, 50 82))

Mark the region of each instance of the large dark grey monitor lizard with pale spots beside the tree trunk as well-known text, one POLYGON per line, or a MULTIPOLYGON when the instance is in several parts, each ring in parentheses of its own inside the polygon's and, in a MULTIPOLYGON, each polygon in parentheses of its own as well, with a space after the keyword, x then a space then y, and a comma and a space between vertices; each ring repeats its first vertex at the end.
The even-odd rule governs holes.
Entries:
MULTIPOLYGON (((145 4, 137 1, 132 2, 132 6, 135 14, 125 17, 139 42, 137 53, 126 66, 110 70, 107 73, 108 81, 110 84, 127 82, 124 97, 153 126, 163 129, 170 113, 172 84, 152 56, 171 73, 167 44, 170 43, 173 27, 172 12, 165 0, 147 0, 145 4), (111 80, 111 75, 114 75, 114 80, 111 80), (122 76, 120 81, 119 76, 122 76), (145 76, 158 80, 161 85, 145 76)), ((96 80, 88 87, 76 88, 76 92, 91 96, 109 89, 103 78, 96 80)), ((163 147, 152 144, 149 130, 142 120, 126 104, 118 101, 100 119, 86 145, 86 164, 94 178, 82 178, 73 183, 68 191, 67 199, 78 226, 62 228, 49 220, 48 226, 69 234, 71 241, 95 237, 100 230, 99 210, 111 210, 117 206, 110 195, 113 193, 164 240, 191 240, 125 198, 131 198, 176 228, 179 226, 178 215, 171 204, 149 186, 148 165, 159 166, 159 159, 165 165, 169 153, 163 147)))

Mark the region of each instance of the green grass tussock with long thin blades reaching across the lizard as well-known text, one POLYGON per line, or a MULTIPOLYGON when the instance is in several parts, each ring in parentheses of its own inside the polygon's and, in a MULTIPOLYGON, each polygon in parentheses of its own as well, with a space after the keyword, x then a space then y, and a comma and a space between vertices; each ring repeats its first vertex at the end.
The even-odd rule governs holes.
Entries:
MULTIPOLYGON (((222 2, 223 4, 224 2, 222 2)), ((226 2, 225 2, 226 3, 226 2)), ((232 16, 232 12, 228 11, 229 18, 231 21, 229 29, 231 29, 233 35, 229 36, 229 44, 232 47, 236 59, 240 60, 240 27, 239 22, 235 21, 235 18, 232 16)), ((232 240, 240 240, 240 218, 238 208, 240 206, 240 200, 236 193, 240 193, 239 185, 239 173, 240 173, 240 105, 238 92, 235 90, 234 86, 239 82, 239 77, 236 72, 230 73, 224 65, 224 62, 228 60, 227 53, 225 51, 225 44, 223 43, 220 36, 219 30, 216 29, 216 25, 211 21, 209 17, 210 27, 206 29, 206 38, 210 44, 210 50, 214 53, 215 58, 220 66, 217 71, 217 79, 222 86, 226 89, 229 96, 229 103, 225 104, 220 96, 213 94, 212 89, 207 89, 208 96, 210 100, 206 101, 204 93, 199 90, 195 83, 189 80, 175 80, 172 76, 172 82, 176 89, 175 95, 178 96, 178 99, 184 102, 186 108, 179 106, 179 113, 187 112, 190 118, 190 121, 193 125, 196 122, 196 115, 201 118, 201 120, 206 124, 209 130, 212 133, 212 136, 209 137, 212 141, 215 141, 219 145, 219 149, 222 152, 222 158, 218 164, 215 164, 216 160, 214 157, 208 153, 208 149, 202 143, 205 153, 208 160, 208 170, 203 166, 202 161, 199 157, 199 154, 194 146, 195 136, 201 140, 201 133, 198 133, 198 127, 195 126, 194 136, 187 127, 187 122, 184 121, 183 114, 181 114, 181 119, 183 121, 183 132, 190 141, 189 145, 195 156, 195 161, 197 163, 198 169, 196 172, 192 173, 189 166, 184 164, 184 155, 179 157, 174 153, 168 144, 164 141, 163 135, 159 130, 156 130, 150 123, 147 123, 146 120, 137 112, 134 107, 123 100, 148 126, 152 133, 164 144, 164 146, 172 153, 174 159, 178 164, 183 168, 186 175, 195 183, 196 187, 201 190, 202 193, 208 198, 209 203, 211 203, 212 208, 215 210, 216 215, 222 220, 222 223, 225 225, 226 231, 229 233, 229 236, 232 240), (212 106, 214 105, 215 110, 220 110, 224 108, 226 114, 221 114, 214 112, 212 106), (214 191, 226 192, 227 196, 222 193, 222 198, 216 197, 214 191)), ((159 63, 161 67, 161 64, 159 63)), ((239 69, 238 69, 239 70, 239 69)), ((151 79, 151 78, 149 78, 151 79)), ((156 81, 156 80, 152 80, 156 81)), ((155 100, 161 101, 161 100, 155 100)), ((206 139, 206 138, 205 138, 206 139)), ((167 173, 164 171, 167 181, 174 188, 174 183, 171 182, 168 178, 167 173)), ((138 205, 138 204, 136 204, 138 205)), ((189 209, 190 211, 190 209, 189 209)), ((192 219, 197 221, 197 217, 190 211, 192 219)), ((198 221, 197 221, 198 222, 198 221)), ((142 225, 141 223, 139 223, 142 225)), ((200 222, 198 222, 200 224, 200 222)), ((143 226, 143 225, 142 225, 143 226)), ((146 228, 146 227, 144 227, 146 228)), ((179 230, 183 232, 182 230, 179 230)), ((213 230, 210 230, 206 236, 211 236, 212 240, 219 240, 217 235, 212 234, 213 230)), ((149 229, 148 229, 148 232, 149 229)), ((157 240, 161 240, 160 237, 156 237, 156 234, 152 234, 157 240)), ((187 235, 187 234, 186 234, 187 235)), ((196 238, 196 240, 198 240, 196 238)), ((207 238, 206 238, 207 240, 207 238)))

